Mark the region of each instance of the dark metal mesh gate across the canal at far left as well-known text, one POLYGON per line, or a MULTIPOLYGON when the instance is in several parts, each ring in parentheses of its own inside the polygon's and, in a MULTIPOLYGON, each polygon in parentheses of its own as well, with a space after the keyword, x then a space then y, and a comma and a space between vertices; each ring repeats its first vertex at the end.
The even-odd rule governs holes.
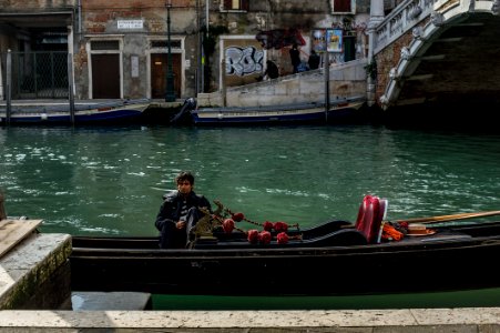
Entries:
MULTIPOLYGON (((11 52, 11 99, 68 99, 68 52, 11 52)), ((7 87, 7 53, 0 54, 7 87)))

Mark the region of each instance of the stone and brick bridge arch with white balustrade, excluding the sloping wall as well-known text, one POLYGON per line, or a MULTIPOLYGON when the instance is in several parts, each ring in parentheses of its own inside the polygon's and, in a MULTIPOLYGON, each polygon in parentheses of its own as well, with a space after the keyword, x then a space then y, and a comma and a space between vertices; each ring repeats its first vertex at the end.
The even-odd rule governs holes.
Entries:
POLYGON ((406 0, 387 17, 382 0, 373 0, 370 10, 371 103, 421 110, 500 101, 500 0, 406 0))

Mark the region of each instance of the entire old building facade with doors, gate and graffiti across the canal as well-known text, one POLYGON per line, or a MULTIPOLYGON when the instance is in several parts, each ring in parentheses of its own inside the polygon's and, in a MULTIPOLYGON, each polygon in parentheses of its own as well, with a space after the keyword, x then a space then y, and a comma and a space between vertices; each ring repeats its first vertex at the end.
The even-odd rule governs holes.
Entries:
POLYGON ((0 0, 0 98, 164 99, 171 71, 184 99, 255 82, 267 59, 292 73, 293 43, 304 63, 364 58, 368 20, 369 0, 0 0))

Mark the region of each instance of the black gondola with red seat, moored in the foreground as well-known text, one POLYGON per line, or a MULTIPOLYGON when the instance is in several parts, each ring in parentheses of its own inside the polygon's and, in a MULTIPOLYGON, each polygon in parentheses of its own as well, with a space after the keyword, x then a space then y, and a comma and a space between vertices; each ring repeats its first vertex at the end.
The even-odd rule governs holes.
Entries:
MULTIPOLYGON (((355 223, 331 221, 287 230, 286 242, 279 241, 284 231, 272 230, 264 242, 251 239, 249 231, 221 231, 201 222, 203 226, 187 249, 159 249, 157 238, 73 236, 72 289, 354 295, 500 286, 500 273, 494 269, 500 221, 470 219, 500 212, 417 219, 422 223, 414 223, 417 220, 385 221, 386 210, 386 200, 367 195, 355 223)), ((210 216, 207 221, 218 226, 227 220, 210 216)))

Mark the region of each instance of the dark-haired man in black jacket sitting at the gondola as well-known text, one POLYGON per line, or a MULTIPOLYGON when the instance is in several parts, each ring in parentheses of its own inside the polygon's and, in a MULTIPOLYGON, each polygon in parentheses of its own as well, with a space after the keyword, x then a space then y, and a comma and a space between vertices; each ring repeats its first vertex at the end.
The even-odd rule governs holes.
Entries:
POLYGON ((175 178, 177 191, 164 195, 154 225, 160 231, 160 248, 182 249, 186 246, 187 234, 203 216, 198 208, 212 212, 208 200, 193 191, 194 176, 191 172, 181 172, 175 178))

